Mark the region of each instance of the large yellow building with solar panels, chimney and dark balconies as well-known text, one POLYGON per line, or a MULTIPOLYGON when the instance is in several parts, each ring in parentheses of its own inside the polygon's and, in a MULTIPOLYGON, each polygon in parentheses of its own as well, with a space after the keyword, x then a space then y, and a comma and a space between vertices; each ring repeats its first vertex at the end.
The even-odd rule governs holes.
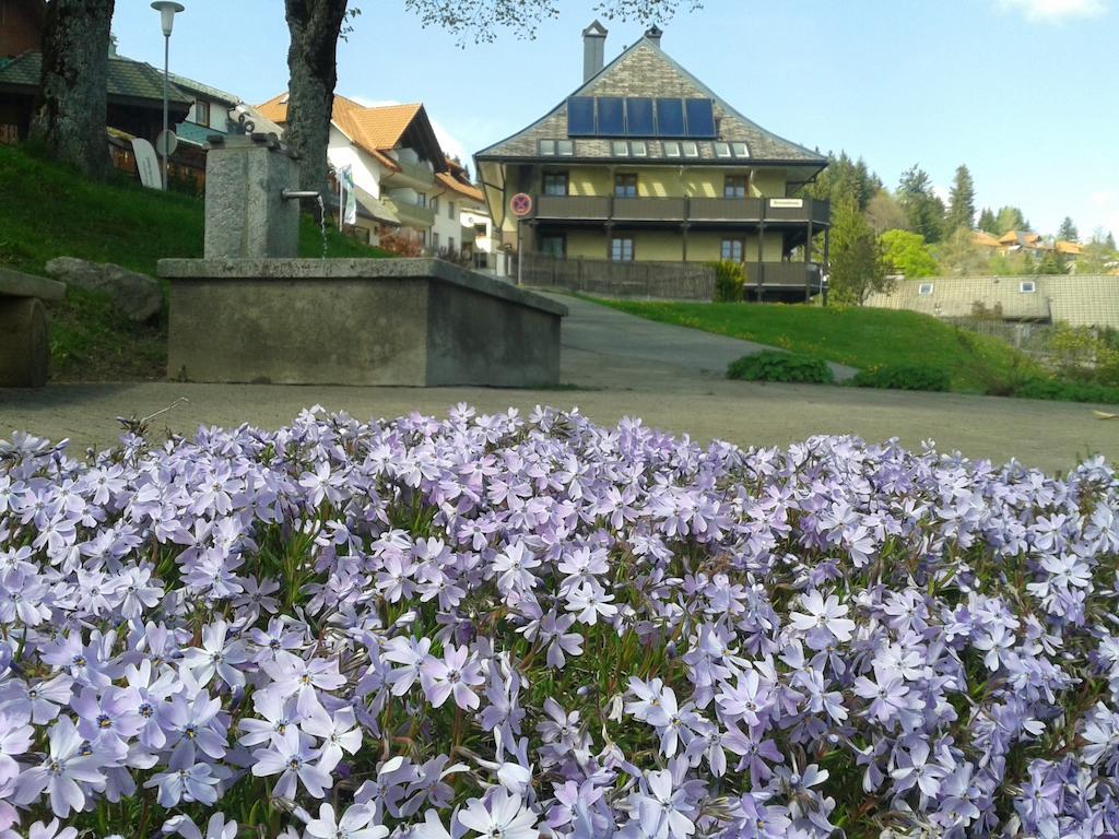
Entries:
POLYGON ((502 243, 566 260, 731 260, 751 296, 818 291, 829 209, 800 191, 827 159, 712 93, 661 50, 659 29, 603 66, 605 36, 598 21, 584 30, 579 89, 476 155, 502 243), (532 198, 523 217, 518 194, 532 198))

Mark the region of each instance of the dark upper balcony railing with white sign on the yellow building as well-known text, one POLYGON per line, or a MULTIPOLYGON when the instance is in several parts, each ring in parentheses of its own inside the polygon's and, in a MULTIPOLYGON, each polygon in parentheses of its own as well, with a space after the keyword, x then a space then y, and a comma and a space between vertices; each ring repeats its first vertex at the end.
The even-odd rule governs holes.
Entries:
POLYGON ((554 221, 830 223, 827 201, 815 198, 536 197, 533 217, 554 221))

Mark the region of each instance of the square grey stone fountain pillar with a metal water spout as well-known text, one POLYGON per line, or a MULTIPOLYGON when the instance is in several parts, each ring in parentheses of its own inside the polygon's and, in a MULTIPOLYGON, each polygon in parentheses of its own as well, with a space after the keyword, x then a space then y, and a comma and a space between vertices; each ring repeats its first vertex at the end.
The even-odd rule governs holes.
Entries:
POLYGON ((271 134, 210 138, 206 154, 206 258, 299 255, 295 159, 271 134))

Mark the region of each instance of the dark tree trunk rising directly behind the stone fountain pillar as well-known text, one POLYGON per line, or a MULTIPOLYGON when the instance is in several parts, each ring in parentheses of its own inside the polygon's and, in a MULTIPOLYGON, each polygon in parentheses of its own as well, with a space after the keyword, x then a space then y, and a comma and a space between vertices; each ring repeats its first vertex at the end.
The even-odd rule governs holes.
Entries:
POLYGON ((338 81, 338 37, 347 0, 285 0, 288 126, 284 140, 299 154, 300 189, 326 190, 327 143, 338 81))

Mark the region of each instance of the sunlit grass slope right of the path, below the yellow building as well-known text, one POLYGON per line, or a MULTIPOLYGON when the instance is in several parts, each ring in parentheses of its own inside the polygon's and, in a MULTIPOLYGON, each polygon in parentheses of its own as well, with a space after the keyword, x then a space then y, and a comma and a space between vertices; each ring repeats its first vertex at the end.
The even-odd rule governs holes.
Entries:
MULTIPOLYGON (((664 323, 769 343, 828 361, 867 368, 919 364, 952 374, 952 387, 984 392, 1010 375, 1021 356, 995 338, 961 333, 916 312, 742 303, 596 302, 664 323)), ((1027 362, 1026 362, 1027 364, 1027 362)))

